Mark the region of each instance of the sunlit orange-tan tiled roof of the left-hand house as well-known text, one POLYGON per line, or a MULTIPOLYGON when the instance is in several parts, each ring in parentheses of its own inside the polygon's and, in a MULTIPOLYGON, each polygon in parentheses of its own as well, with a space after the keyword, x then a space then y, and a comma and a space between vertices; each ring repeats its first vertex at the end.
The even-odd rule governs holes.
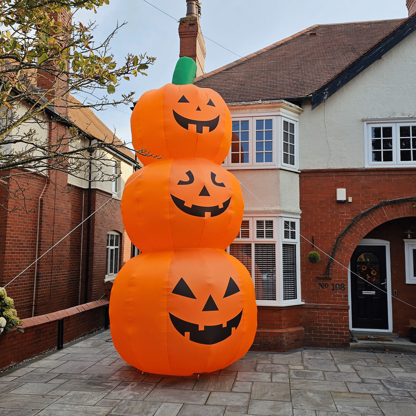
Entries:
MULTIPOLYGON (((82 103, 76 98, 69 96, 69 101, 74 104, 79 104, 80 107, 68 107, 68 119, 78 129, 84 131, 89 136, 95 139, 111 143, 113 140, 115 143, 123 144, 123 142, 112 132, 89 108, 81 107, 82 103)), ((126 147, 119 147, 116 151, 124 154, 125 156, 134 160, 134 154, 126 147)))

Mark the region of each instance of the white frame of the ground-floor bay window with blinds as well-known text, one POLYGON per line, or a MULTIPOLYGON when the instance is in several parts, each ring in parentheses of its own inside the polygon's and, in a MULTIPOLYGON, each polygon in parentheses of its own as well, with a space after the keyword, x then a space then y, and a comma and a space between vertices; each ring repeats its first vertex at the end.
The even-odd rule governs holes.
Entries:
MULTIPOLYGON (((257 305, 259 306, 291 306, 291 305, 302 305, 305 302, 302 302, 301 299, 301 285, 300 285, 300 244, 299 244, 299 216, 290 216, 286 215, 285 217, 279 217, 276 215, 260 215, 253 214, 250 215, 247 213, 247 216, 243 218, 243 221, 248 220, 250 224, 250 238, 236 238, 233 243, 251 243, 252 244, 252 256, 251 256, 251 275, 254 282, 254 267, 255 267, 255 243, 274 243, 275 244, 275 253, 276 253, 276 300, 256 300, 257 305), (256 236, 256 220, 273 220, 273 238, 257 238, 256 236), (283 233, 283 221, 294 221, 296 223, 296 238, 295 239, 284 239, 283 233), (283 300, 283 264, 282 264, 282 255, 283 255, 283 244, 293 244, 296 245, 296 299, 283 300)), ((230 247, 227 248, 227 253, 230 253, 230 247)))

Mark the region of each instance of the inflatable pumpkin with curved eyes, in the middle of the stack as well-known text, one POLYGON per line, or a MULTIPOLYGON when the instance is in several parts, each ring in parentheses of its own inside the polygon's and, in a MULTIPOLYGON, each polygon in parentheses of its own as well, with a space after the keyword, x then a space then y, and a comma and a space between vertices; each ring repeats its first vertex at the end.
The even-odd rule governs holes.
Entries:
POLYGON ((243 211, 235 176, 200 158, 151 163, 130 176, 121 198, 124 228, 144 253, 225 249, 240 230, 243 211))

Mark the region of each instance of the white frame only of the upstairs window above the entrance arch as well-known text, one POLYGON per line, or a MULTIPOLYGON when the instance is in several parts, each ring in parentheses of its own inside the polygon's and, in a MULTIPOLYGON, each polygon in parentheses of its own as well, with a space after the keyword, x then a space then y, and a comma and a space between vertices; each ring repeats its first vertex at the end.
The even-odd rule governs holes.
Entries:
POLYGON ((414 117, 385 117, 377 119, 363 119, 364 121, 364 155, 365 167, 401 167, 410 168, 416 166, 416 161, 400 160, 400 127, 416 126, 414 117), (392 127, 393 138, 393 161, 391 162, 373 162, 371 154, 371 128, 372 127, 392 127))

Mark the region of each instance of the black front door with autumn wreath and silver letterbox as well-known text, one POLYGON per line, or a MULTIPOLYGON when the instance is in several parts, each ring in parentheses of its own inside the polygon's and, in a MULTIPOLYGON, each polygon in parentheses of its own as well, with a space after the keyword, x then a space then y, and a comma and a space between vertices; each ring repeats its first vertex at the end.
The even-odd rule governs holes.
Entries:
POLYGON ((386 246, 357 246, 351 258, 353 328, 389 329, 385 292, 387 292, 386 246))

